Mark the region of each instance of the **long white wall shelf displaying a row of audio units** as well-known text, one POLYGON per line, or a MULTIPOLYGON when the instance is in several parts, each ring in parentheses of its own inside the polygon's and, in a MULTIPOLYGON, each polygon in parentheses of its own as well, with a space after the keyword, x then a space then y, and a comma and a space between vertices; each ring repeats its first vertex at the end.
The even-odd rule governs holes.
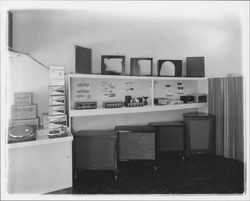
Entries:
MULTIPOLYGON (((207 107, 207 103, 190 103, 179 105, 154 105, 155 97, 166 97, 166 94, 161 92, 165 90, 165 85, 172 85, 174 87, 173 99, 180 97, 181 93, 177 93, 176 87, 179 82, 182 82, 185 86, 185 93, 190 94, 194 92, 205 91, 201 86, 207 85, 208 78, 206 77, 158 77, 158 76, 120 76, 120 75, 98 75, 98 74, 68 74, 68 114, 69 114, 69 127, 71 128, 71 121, 74 117, 87 117, 87 116, 99 116, 99 115, 115 115, 115 114, 135 114, 145 112, 160 112, 170 110, 187 110, 198 109, 207 107), (148 96, 149 103, 143 107, 121 107, 121 108, 102 108, 103 101, 124 101, 126 90, 125 85, 129 82, 135 83, 135 94, 132 96, 142 97, 148 96), (78 82, 84 84, 89 82, 91 87, 88 88, 91 92, 91 99, 86 100, 77 99, 78 82), (83 82, 83 83, 81 83, 83 82), (111 98, 103 95, 103 83, 112 82, 116 86, 116 95, 111 98), (165 83, 166 82, 166 83, 165 83), (201 87, 201 88, 200 88, 201 87), (143 95, 142 95, 143 94, 143 95), (97 101, 97 109, 85 109, 76 110, 75 102, 77 101, 97 101)), ((83 88, 85 90, 85 88, 83 88)), ((83 91, 84 91, 83 90, 83 91)), ((206 92, 205 92, 206 93, 206 92)))

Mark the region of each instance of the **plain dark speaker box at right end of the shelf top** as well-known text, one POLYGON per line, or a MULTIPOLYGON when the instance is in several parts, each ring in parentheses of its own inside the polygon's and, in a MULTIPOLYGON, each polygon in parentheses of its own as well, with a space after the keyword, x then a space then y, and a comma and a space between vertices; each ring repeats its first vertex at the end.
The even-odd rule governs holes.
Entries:
POLYGON ((187 77, 205 77, 204 57, 187 57, 187 77))

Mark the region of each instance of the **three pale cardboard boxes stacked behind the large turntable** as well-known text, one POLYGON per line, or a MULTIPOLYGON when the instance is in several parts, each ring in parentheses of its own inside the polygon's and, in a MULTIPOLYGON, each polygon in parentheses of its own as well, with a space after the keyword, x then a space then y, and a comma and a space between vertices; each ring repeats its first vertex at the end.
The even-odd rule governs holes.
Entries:
POLYGON ((37 117, 37 105, 33 104, 32 92, 16 92, 14 93, 14 105, 11 106, 10 127, 30 125, 39 127, 39 119, 37 117))

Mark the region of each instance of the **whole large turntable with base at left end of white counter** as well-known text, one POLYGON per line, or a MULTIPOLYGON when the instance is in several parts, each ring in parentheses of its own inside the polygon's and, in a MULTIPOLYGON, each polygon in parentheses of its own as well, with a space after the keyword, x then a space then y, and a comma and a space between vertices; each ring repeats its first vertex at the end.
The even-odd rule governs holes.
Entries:
POLYGON ((36 131, 29 125, 9 127, 8 143, 36 140, 36 131))

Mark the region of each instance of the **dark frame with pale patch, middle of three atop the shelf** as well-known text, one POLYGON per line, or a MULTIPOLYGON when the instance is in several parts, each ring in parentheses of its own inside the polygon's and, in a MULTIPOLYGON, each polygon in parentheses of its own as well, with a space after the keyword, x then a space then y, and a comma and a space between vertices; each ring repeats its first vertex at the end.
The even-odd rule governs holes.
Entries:
POLYGON ((153 75, 153 59, 152 58, 130 58, 130 75, 152 76, 153 75))

